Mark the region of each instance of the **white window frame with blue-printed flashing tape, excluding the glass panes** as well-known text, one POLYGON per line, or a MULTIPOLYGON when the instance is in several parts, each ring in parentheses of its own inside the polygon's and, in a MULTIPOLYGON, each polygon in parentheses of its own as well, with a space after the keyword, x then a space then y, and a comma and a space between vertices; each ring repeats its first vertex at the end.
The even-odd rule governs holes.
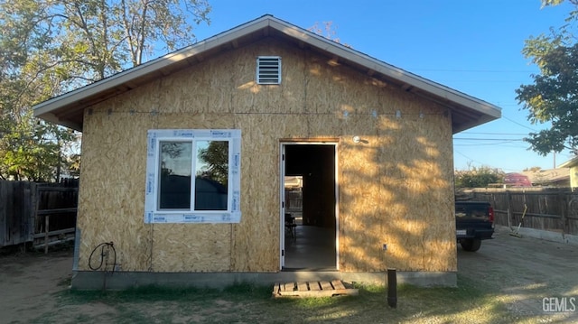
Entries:
MULTIPOLYGON (((193 151, 195 152, 195 151, 193 151)), ((192 157, 192 170, 195 160, 192 157)), ((147 133, 146 188, 144 193, 144 223, 238 223, 240 210, 241 130, 240 129, 151 129, 147 133), (190 142, 193 149, 197 141, 228 141, 228 202, 227 210, 194 210, 159 208, 160 143, 190 142)), ((191 190, 194 192, 194 174, 191 190)), ((194 193, 191 192, 191 196, 194 193)))

